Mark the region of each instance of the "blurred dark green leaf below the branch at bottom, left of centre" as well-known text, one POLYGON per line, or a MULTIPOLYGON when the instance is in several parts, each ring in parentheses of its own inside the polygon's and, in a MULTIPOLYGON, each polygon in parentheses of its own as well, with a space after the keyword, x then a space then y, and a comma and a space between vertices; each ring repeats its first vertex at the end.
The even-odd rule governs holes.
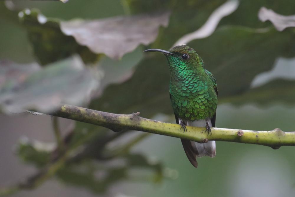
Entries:
POLYGON ((94 193, 105 193, 110 186, 122 180, 141 180, 159 183, 163 179, 162 165, 149 163, 140 154, 127 154, 124 157, 103 162, 86 161, 68 165, 58 172, 58 178, 71 185, 86 187, 94 193), (118 159, 121 159, 119 162, 118 159), (136 167, 136 173, 130 170, 136 167), (151 170, 145 173, 146 170, 151 170))

